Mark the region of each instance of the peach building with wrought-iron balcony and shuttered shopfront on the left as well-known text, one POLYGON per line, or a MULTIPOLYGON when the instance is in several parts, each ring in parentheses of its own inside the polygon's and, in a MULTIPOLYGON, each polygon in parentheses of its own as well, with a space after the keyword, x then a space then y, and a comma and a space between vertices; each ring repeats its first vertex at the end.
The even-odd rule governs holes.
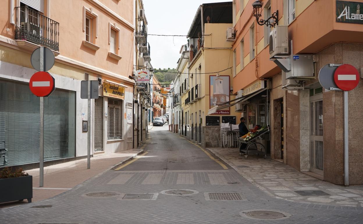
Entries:
POLYGON ((142 0, 1 3, 0 168, 30 168, 39 162, 40 98, 30 92, 29 79, 37 72, 30 56, 40 46, 55 56, 48 72, 56 89, 44 98, 46 164, 85 158, 88 131, 91 156, 142 143, 151 90, 150 80, 136 86, 136 66, 152 68, 143 10, 142 0), (82 80, 98 82, 90 121, 87 99, 80 97, 82 80))

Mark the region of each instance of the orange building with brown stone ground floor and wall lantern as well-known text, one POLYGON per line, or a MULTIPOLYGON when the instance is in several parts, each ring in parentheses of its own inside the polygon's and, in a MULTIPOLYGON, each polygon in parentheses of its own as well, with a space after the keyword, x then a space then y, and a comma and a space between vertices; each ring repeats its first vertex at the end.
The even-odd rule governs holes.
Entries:
MULTIPOLYGON (((362 76, 363 11, 356 6, 363 1, 261 1, 260 19, 278 11, 277 25, 287 29, 289 55, 311 60, 310 77, 290 79, 286 79, 290 73, 270 60, 270 32, 276 28, 257 24, 253 2, 233 0, 233 91, 248 99, 231 109, 241 111, 249 129, 257 124, 270 126, 263 142, 271 158, 344 184, 343 91, 326 90, 318 78, 327 64, 351 64, 362 76)), ((363 142, 358 134, 363 125, 362 91, 360 81, 348 93, 349 184, 363 183, 359 159, 363 142)))

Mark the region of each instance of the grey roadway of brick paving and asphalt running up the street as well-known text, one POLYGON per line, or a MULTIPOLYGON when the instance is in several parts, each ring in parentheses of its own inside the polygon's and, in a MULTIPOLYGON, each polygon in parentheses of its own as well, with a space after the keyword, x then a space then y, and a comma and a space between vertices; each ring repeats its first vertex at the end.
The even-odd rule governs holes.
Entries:
POLYGON ((137 160, 51 199, 1 209, 0 223, 362 223, 362 207, 271 197, 166 126, 154 127, 150 136, 137 160), (101 195, 109 197, 91 197, 94 192, 109 192, 101 195), (216 200, 215 193, 238 200, 216 200), (285 219, 251 219, 246 211, 252 209, 283 212, 285 219))

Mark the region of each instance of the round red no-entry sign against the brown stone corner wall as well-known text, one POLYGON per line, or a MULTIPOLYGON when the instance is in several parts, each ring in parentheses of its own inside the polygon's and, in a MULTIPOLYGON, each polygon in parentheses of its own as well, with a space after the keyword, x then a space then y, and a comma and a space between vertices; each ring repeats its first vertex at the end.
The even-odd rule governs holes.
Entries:
POLYGON ((344 91, 349 91, 358 86, 359 73, 352 65, 340 65, 334 72, 334 82, 338 88, 344 91))

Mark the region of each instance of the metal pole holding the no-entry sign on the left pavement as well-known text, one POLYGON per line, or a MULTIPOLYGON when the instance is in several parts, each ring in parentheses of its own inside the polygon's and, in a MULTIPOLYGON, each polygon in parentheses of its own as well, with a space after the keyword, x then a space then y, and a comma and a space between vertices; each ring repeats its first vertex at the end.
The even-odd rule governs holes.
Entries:
MULTIPOLYGON (((40 71, 44 71, 44 47, 40 47, 40 71)), ((40 97, 39 187, 44 183, 44 97, 40 97)))

